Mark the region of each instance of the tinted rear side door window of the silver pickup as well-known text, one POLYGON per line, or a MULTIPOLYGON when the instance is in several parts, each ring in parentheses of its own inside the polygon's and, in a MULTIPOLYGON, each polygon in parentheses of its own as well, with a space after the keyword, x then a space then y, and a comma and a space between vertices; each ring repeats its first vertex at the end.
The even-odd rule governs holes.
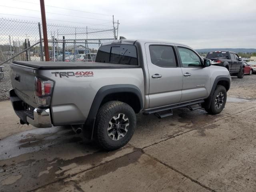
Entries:
POLYGON ((176 57, 172 46, 150 45, 151 62, 160 67, 177 67, 176 57))

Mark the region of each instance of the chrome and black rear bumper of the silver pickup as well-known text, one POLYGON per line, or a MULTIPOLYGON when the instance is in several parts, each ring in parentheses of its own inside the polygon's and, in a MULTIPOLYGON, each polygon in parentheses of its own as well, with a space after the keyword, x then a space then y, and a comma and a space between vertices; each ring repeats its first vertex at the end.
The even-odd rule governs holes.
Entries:
POLYGON ((31 124, 37 128, 52 127, 49 108, 33 108, 23 102, 14 92, 10 90, 10 100, 16 115, 26 124, 31 124))

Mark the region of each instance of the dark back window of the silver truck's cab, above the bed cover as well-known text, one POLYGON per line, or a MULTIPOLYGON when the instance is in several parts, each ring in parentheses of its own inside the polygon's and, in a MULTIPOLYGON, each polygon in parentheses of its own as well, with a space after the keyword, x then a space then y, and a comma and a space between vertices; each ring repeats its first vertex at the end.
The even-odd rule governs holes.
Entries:
POLYGON ((95 62, 138 65, 137 50, 134 45, 101 46, 95 62))

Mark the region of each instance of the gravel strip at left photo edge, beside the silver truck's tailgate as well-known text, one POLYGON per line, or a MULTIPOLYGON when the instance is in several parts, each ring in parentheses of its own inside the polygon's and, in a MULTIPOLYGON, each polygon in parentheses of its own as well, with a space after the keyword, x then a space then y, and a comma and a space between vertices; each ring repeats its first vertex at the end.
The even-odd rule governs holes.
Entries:
POLYGON ((10 81, 10 64, 4 64, 4 79, 0 81, 0 101, 9 99, 9 90, 12 88, 10 81))

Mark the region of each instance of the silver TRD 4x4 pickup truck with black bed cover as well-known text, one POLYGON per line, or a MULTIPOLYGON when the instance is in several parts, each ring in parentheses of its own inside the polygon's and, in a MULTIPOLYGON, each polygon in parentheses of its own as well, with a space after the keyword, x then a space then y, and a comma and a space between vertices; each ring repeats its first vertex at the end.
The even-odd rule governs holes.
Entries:
POLYGON ((226 68, 211 66, 192 48, 154 40, 103 43, 96 62, 10 66, 10 100, 21 124, 84 128, 107 150, 129 142, 139 112, 158 118, 184 107, 220 113, 231 82, 226 68))

